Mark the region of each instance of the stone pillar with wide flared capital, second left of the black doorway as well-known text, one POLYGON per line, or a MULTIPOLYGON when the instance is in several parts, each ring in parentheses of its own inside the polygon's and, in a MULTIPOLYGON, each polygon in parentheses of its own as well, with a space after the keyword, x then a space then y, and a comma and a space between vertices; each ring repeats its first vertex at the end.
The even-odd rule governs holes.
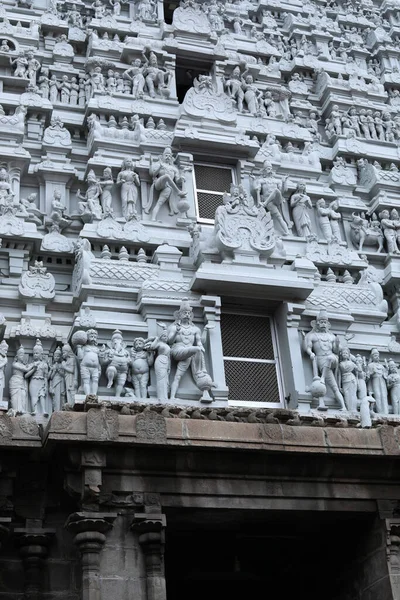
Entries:
POLYGON ((82 600, 101 600, 100 552, 105 534, 112 528, 116 514, 73 513, 65 527, 75 534, 74 543, 82 559, 82 600))

